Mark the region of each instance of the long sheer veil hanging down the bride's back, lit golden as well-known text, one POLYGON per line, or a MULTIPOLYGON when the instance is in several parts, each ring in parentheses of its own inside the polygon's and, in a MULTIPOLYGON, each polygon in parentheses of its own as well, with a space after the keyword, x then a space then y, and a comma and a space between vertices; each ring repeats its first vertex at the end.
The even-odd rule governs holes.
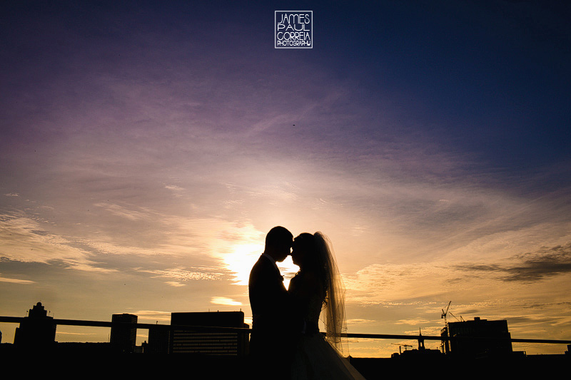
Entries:
POLYGON ((325 324, 325 338, 343 354, 341 334, 347 332, 345 322, 345 285, 339 274, 333 247, 328 237, 321 232, 315 232, 315 242, 318 248, 320 263, 325 274, 325 302, 321 316, 325 324))

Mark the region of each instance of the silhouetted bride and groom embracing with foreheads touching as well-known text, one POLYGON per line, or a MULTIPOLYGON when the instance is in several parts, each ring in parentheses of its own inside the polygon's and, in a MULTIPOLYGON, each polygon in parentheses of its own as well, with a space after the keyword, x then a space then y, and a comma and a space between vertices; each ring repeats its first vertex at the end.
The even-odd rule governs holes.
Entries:
POLYGON ((293 239, 284 227, 273 227, 250 273, 249 292, 256 379, 363 379, 337 349, 345 294, 325 235, 303 233, 293 239), (300 270, 285 289, 276 262, 288 255, 300 270), (322 310, 326 338, 318 328, 322 310))

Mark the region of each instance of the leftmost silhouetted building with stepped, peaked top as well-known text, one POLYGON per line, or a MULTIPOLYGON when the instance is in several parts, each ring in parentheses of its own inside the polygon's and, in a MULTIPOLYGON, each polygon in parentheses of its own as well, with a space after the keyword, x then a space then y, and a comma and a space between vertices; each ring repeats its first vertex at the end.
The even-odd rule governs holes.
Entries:
POLYGON ((56 324, 54 317, 48 317, 48 312, 41 302, 32 307, 28 317, 20 322, 14 334, 14 346, 28 349, 46 348, 56 342, 56 324))

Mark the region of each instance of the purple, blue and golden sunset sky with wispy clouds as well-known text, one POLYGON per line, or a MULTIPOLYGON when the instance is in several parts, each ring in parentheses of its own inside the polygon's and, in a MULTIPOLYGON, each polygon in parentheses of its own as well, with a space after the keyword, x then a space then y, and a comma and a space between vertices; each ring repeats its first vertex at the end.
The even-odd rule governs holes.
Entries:
POLYGON ((452 301, 571 339, 569 4, 117 3, 1 2, 0 315, 251 323, 283 225, 333 242, 348 332, 438 335, 452 301), (280 10, 313 11, 313 48, 274 48, 280 10))

